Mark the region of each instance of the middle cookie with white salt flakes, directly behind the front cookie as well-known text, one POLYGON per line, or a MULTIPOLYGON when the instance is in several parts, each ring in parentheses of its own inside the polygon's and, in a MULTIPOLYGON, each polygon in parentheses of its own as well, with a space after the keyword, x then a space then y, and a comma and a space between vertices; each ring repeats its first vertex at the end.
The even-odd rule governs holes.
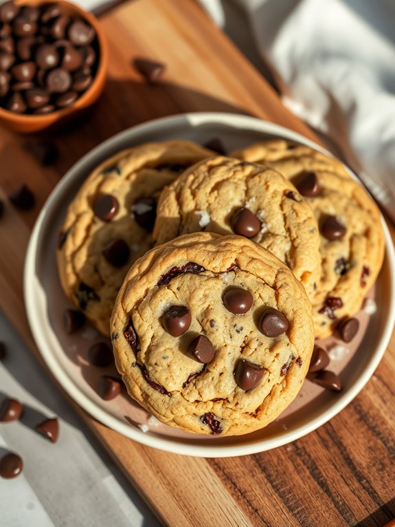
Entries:
POLYGON ((222 156, 191 166, 163 190, 153 237, 161 244, 200 230, 256 241, 289 266, 313 297, 321 269, 317 222, 277 171, 222 156))

